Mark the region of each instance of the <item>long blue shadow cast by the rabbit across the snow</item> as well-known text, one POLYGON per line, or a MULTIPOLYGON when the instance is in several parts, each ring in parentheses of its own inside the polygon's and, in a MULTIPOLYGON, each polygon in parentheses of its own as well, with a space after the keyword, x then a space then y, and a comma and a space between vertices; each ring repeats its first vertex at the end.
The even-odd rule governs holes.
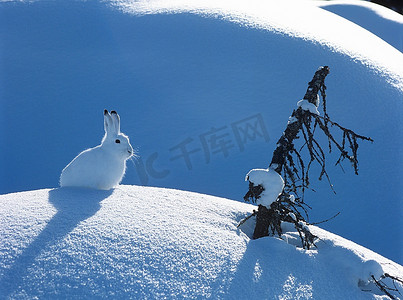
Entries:
MULTIPOLYGON (((29 269, 35 267, 36 258, 43 250, 57 245, 73 231, 80 222, 94 216, 101 208, 101 201, 108 198, 113 190, 100 191, 84 188, 58 188, 49 191, 49 203, 57 210, 41 233, 29 244, 13 262, 2 279, 0 294, 11 296, 18 290, 29 290, 29 269)), ((56 251, 58 247, 54 248, 56 251)))

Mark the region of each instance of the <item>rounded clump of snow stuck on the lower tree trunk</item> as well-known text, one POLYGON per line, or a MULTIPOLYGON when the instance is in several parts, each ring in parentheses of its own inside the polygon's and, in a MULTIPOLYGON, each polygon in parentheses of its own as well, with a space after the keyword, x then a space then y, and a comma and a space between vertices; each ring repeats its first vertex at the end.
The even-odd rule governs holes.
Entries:
POLYGON ((261 185, 264 191, 260 194, 260 198, 256 201, 270 207, 277 197, 283 192, 284 180, 280 174, 270 169, 253 169, 245 177, 245 181, 254 183, 255 186, 261 185))

